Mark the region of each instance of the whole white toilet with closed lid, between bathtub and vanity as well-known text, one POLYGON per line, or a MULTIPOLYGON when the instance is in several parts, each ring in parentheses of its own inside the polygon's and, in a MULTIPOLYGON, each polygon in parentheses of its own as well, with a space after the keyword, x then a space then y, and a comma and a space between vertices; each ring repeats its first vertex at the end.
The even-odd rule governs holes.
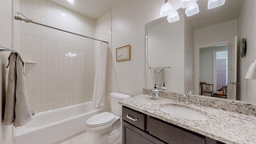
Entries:
POLYGON ((130 98, 130 95, 118 92, 110 94, 110 112, 96 114, 86 121, 86 130, 92 133, 92 144, 110 144, 120 135, 122 105, 119 100, 130 98))

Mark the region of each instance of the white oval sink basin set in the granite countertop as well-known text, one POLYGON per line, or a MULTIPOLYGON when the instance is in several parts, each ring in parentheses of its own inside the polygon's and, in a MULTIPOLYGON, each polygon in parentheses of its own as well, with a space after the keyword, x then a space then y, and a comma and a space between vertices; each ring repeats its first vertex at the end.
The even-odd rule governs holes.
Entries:
POLYGON ((191 110, 189 108, 186 108, 186 106, 168 105, 160 106, 160 109, 168 114, 181 118, 186 118, 190 120, 208 120, 208 117, 201 112, 191 110))

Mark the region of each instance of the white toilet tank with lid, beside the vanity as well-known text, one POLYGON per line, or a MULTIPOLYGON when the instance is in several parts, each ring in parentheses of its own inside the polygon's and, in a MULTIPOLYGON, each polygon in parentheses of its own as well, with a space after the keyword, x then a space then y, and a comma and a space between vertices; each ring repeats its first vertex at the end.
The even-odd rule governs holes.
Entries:
POLYGON ((110 104, 112 113, 117 116, 122 116, 122 105, 118 104, 118 102, 119 100, 124 100, 130 97, 131 96, 128 94, 122 94, 119 92, 110 93, 110 104))

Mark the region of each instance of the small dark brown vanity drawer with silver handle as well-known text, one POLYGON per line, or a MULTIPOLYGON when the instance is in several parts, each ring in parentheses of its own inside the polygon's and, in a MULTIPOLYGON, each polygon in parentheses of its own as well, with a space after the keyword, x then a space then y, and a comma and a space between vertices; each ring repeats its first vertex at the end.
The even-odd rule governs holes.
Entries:
POLYGON ((129 122, 142 130, 145 130, 145 117, 145 114, 124 106, 122 107, 122 120, 125 120, 126 122, 129 122))

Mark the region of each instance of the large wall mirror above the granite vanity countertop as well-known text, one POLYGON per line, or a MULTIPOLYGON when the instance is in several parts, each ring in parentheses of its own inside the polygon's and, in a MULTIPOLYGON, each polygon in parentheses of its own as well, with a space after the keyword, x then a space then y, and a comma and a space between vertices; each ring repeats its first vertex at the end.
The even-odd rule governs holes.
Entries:
MULTIPOLYGON (((177 6, 179 0, 170 3, 177 6)), ((206 82, 213 84, 213 92, 205 96, 226 86, 228 99, 256 102, 256 80, 244 78, 256 58, 256 2, 226 0, 210 10, 208 0, 197 3, 196 15, 187 17, 185 9, 178 8, 179 21, 169 23, 163 17, 146 24, 146 88, 154 88, 160 68, 163 81, 158 89, 166 82, 168 91, 201 94, 200 82, 206 82), (242 38, 246 52, 241 58, 242 38)))

